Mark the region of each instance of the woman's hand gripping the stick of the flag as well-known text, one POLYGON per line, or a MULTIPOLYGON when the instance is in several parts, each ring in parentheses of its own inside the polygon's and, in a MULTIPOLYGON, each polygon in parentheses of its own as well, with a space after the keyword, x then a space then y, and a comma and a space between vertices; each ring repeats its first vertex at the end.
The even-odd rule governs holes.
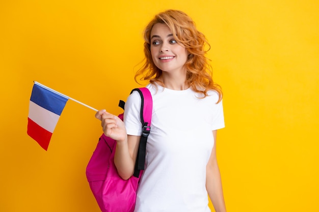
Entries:
POLYGON ((101 121, 104 135, 116 141, 127 140, 125 125, 118 116, 108 113, 106 110, 99 110, 95 117, 101 121))

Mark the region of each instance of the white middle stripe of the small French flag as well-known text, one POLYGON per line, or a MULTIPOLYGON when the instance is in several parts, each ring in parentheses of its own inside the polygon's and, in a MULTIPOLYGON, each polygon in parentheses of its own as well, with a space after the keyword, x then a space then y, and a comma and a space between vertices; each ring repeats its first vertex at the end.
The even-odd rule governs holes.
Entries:
POLYGON ((45 130, 49 131, 50 133, 53 133, 60 118, 60 115, 57 115, 30 101, 29 118, 45 130))

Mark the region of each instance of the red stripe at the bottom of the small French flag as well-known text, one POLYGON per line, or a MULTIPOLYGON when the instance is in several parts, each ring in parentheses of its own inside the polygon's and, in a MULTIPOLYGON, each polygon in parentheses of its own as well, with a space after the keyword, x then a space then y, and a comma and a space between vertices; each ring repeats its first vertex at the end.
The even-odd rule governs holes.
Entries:
POLYGON ((40 127, 37 123, 35 123, 32 119, 28 117, 28 135, 36 140, 39 145, 47 150, 49 146, 49 142, 52 136, 52 133, 40 127))

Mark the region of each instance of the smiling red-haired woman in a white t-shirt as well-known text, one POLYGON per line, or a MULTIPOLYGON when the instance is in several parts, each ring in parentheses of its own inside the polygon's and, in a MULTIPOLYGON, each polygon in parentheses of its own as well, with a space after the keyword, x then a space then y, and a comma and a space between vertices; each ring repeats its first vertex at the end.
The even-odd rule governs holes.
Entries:
MULTIPOLYGON (((217 212, 226 211, 216 159, 216 134, 224 127, 222 92, 210 75, 208 43, 177 10, 157 14, 144 39, 146 59, 136 79, 150 81, 153 111, 135 211, 210 211, 207 193, 217 212)), ((132 93, 124 123, 105 110, 95 115, 104 134, 117 141, 115 165, 123 179, 134 172, 140 105, 139 94, 132 93)))

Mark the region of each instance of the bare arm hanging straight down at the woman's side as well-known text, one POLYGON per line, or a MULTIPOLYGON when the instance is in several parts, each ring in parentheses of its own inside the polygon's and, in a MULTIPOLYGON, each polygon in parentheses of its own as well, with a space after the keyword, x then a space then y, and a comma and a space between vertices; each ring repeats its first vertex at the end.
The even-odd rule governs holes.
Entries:
POLYGON ((215 142, 206 166, 206 190, 216 212, 226 212, 222 180, 216 158, 217 130, 212 131, 212 134, 214 135, 215 142))

